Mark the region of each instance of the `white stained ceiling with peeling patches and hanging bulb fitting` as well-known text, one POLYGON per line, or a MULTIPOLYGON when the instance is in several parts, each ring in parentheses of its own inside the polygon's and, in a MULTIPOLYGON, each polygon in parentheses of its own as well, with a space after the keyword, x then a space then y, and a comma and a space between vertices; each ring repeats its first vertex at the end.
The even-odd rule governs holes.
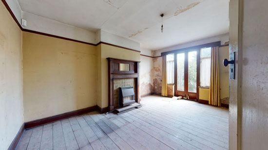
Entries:
POLYGON ((229 32, 229 0, 18 0, 24 12, 158 50, 229 32), (164 13, 164 32, 161 17, 164 13))

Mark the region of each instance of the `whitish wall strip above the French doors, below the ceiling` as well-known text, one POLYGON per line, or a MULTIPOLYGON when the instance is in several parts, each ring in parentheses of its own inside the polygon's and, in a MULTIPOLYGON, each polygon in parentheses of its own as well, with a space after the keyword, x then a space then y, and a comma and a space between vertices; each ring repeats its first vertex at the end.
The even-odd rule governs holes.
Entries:
POLYGON ((197 41, 178 44, 178 45, 171 46, 171 47, 164 48, 164 49, 160 49, 160 50, 154 50, 154 56, 160 56, 161 52, 165 52, 165 51, 178 50, 178 49, 188 48, 188 47, 207 44, 207 43, 216 42, 216 41, 221 41, 222 45, 225 42, 228 42, 229 41, 229 33, 218 35, 218 36, 212 36, 212 37, 204 38, 204 39, 197 40, 197 41))

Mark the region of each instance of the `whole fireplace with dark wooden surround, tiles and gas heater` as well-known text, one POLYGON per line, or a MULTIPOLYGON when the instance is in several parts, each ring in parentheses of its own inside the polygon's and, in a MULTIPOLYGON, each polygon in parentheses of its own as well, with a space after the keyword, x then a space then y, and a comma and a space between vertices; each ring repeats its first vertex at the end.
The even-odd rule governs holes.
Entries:
MULTIPOLYGON (((108 111, 118 107, 139 104, 139 62, 115 58, 108 59, 108 111), (131 86, 131 87, 126 87, 131 86), (122 101, 120 102, 120 90, 122 101), (125 92, 126 90, 126 92, 125 92), (128 96, 127 96, 128 95, 128 96), (130 97, 129 97, 130 96, 130 97), (124 99, 125 101, 123 101, 124 99), (134 104, 133 104, 134 103, 134 104)), ((125 108, 126 108, 125 107, 125 108)), ((118 111, 119 112, 119 111, 118 111)))

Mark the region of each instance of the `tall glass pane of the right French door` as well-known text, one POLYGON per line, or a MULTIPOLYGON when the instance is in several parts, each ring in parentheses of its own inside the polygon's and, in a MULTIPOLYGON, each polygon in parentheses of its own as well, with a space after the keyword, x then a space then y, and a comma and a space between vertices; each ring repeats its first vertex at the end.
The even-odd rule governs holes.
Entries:
POLYGON ((196 51, 188 53, 188 91, 196 93, 196 51))

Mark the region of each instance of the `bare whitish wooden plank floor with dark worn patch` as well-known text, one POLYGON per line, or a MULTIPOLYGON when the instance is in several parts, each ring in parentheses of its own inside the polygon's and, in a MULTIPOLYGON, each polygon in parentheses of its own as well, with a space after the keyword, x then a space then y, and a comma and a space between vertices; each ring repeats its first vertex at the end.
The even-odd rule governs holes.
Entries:
POLYGON ((26 130, 17 150, 226 150, 228 109, 159 96, 120 115, 97 112, 26 130))

